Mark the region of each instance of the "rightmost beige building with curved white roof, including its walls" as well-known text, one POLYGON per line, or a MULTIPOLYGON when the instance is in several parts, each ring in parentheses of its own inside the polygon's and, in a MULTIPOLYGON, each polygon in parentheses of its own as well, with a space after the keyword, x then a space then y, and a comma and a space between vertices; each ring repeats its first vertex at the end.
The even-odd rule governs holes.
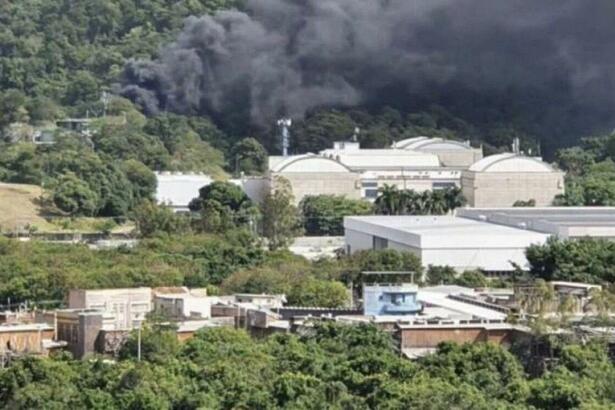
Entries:
POLYGON ((461 188, 472 207, 510 207, 529 200, 536 206, 550 206, 564 193, 564 173, 540 158, 496 154, 463 171, 461 188))

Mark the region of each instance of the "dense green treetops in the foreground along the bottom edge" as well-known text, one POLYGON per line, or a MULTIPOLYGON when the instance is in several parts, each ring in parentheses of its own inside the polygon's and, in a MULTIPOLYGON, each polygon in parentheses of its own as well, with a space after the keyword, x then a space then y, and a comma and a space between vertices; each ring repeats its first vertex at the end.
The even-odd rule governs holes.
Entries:
POLYGON ((178 345, 144 331, 117 363, 24 358, 0 370, 0 402, 31 408, 606 409, 615 366, 604 346, 568 345, 549 371, 529 377, 491 344, 440 346, 410 362, 373 326, 319 324, 304 336, 255 341, 210 329, 178 345))

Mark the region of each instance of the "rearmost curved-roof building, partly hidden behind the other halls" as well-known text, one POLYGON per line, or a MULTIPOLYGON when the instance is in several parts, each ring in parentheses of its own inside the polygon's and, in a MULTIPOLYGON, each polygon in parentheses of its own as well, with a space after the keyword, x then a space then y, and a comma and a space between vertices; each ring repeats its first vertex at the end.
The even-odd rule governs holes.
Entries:
POLYGON ((472 148, 469 142, 443 138, 407 138, 395 142, 392 148, 435 154, 446 167, 467 168, 483 157, 482 149, 472 148))

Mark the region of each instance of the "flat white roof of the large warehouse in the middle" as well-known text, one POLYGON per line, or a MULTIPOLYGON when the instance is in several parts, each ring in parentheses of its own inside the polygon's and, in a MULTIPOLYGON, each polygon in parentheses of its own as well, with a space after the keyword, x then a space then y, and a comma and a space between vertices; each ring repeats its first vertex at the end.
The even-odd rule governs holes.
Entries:
POLYGON ((548 235, 455 216, 352 216, 344 228, 417 249, 510 249, 543 243, 548 235))

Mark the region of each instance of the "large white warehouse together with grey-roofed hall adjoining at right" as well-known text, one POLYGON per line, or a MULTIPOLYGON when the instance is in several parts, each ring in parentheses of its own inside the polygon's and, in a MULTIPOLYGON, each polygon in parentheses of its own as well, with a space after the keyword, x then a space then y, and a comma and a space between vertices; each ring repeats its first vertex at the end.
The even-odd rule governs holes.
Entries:
POLYGON ((423 266, 490 273, 527 267, 525 249, 555 236, 615 239, 615 207, 464 208, 457 216, 361 216, 344 219, 349 253, 409 251, 423 266))

